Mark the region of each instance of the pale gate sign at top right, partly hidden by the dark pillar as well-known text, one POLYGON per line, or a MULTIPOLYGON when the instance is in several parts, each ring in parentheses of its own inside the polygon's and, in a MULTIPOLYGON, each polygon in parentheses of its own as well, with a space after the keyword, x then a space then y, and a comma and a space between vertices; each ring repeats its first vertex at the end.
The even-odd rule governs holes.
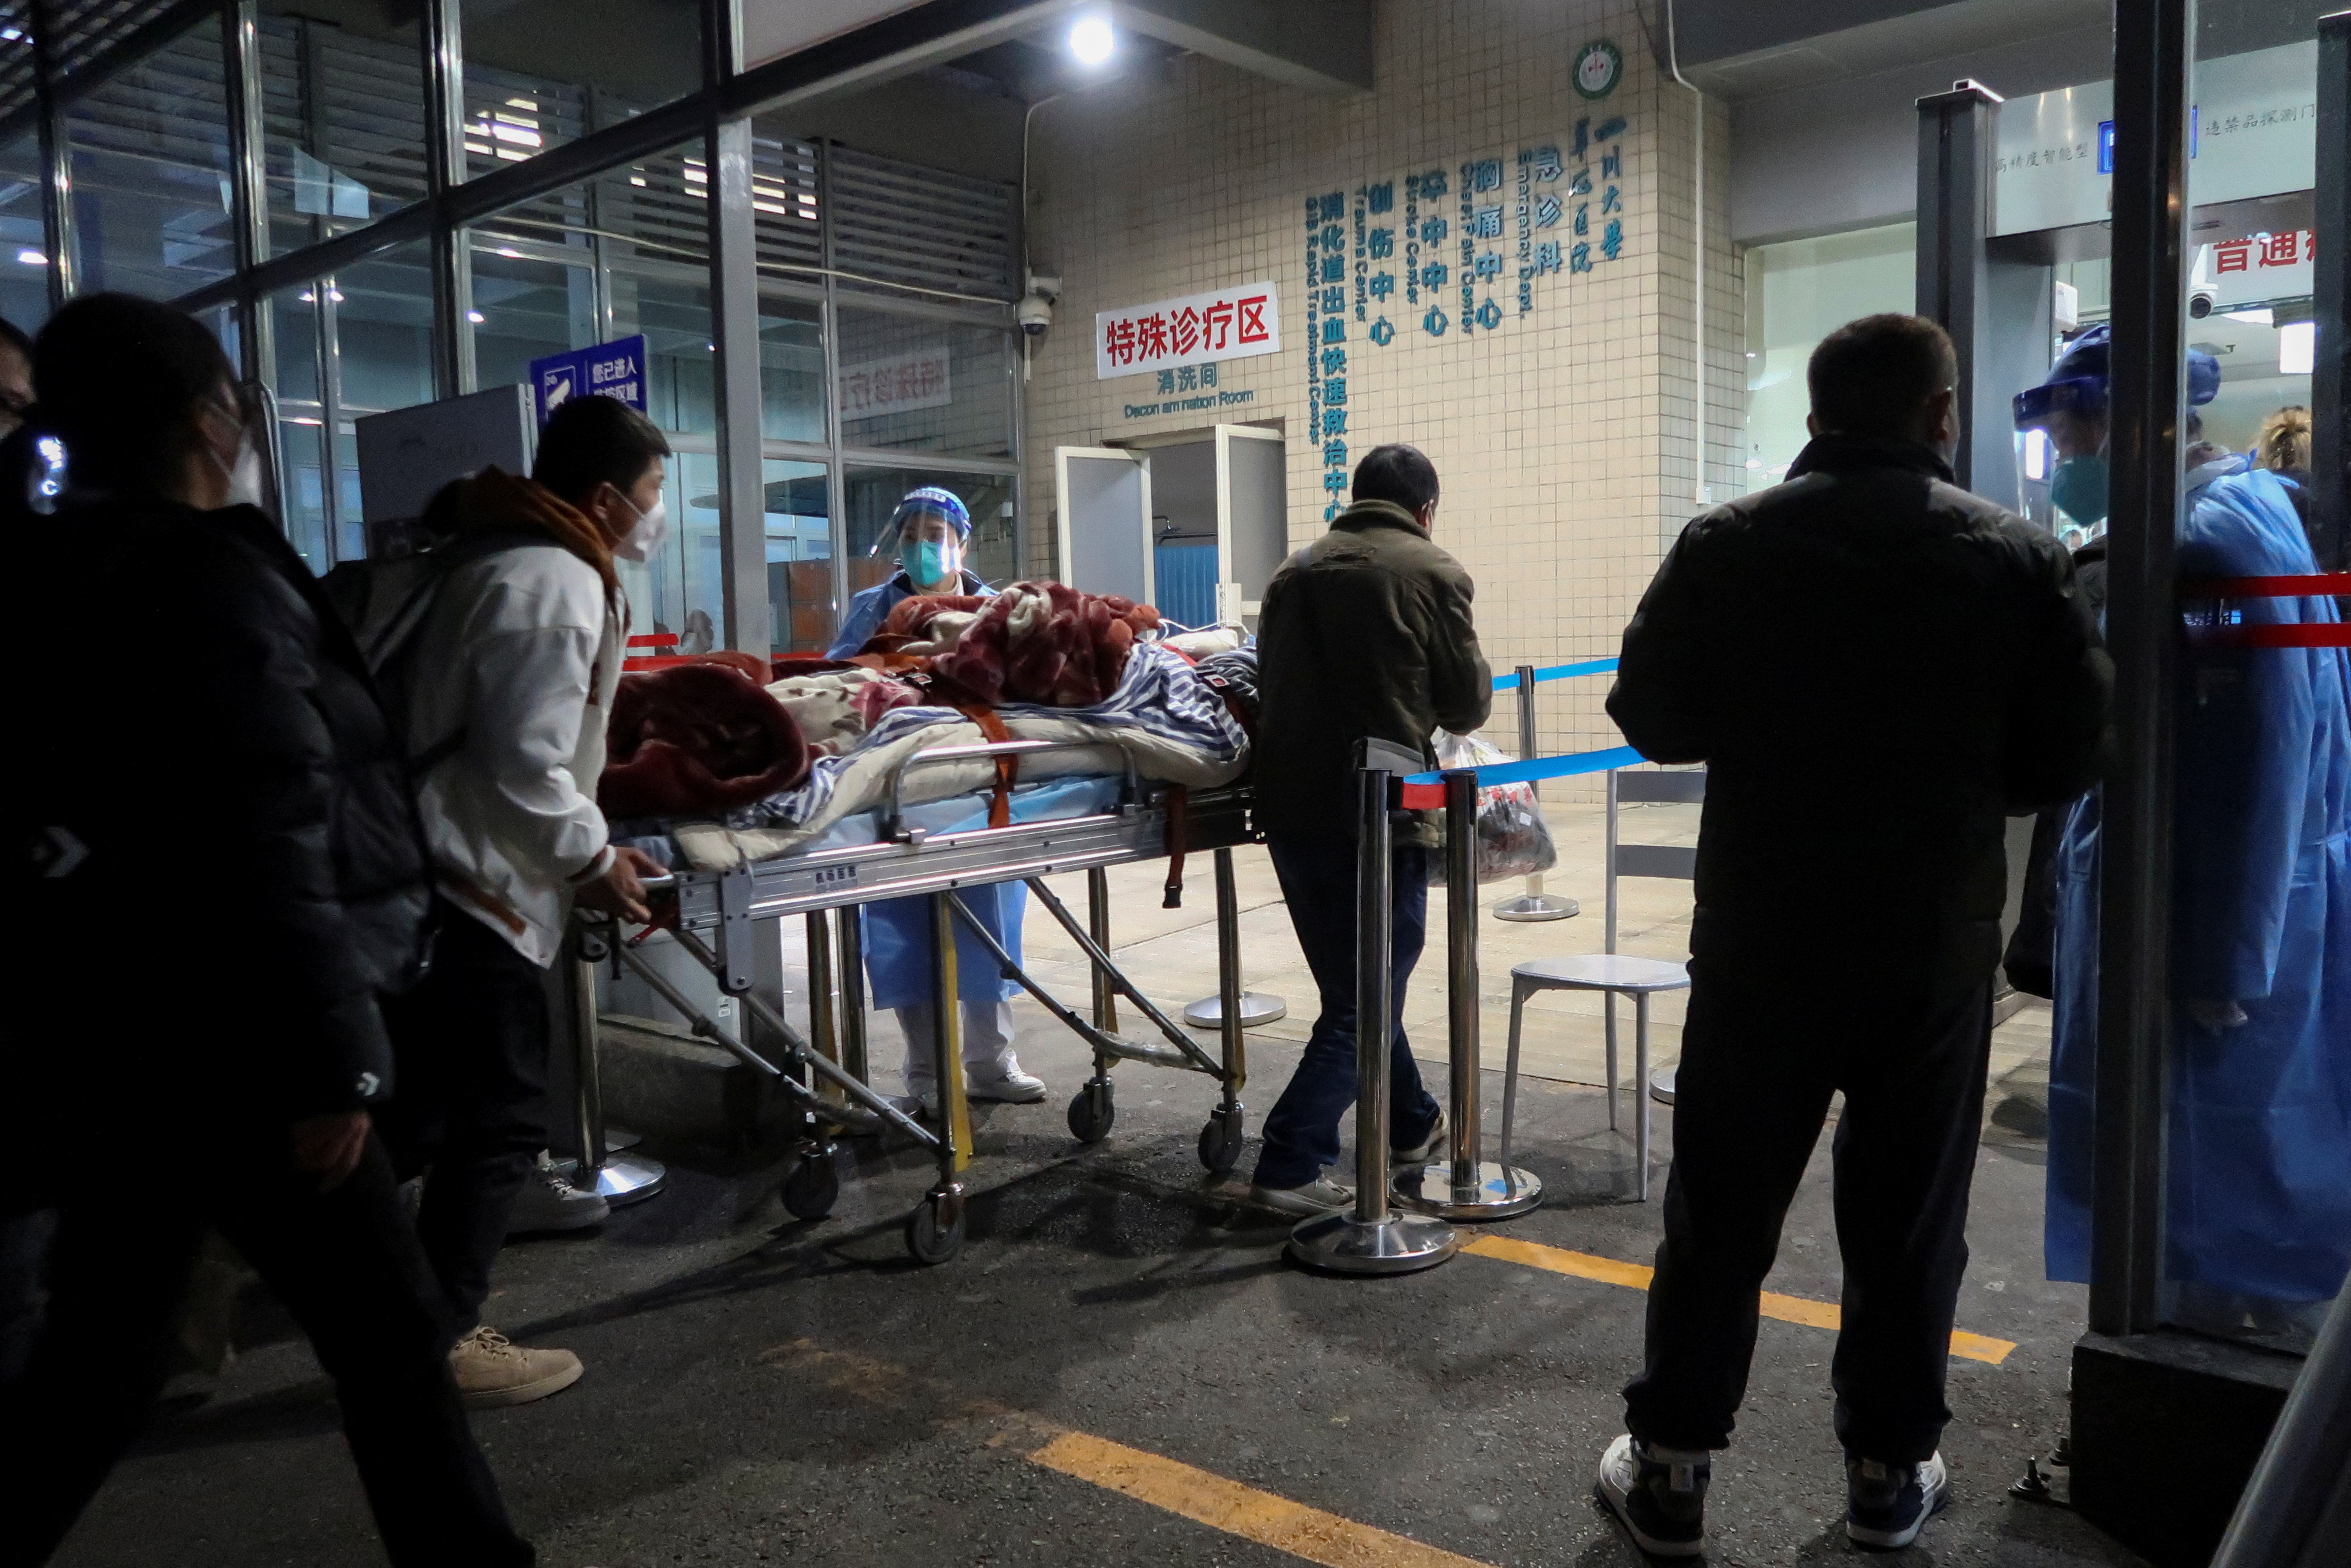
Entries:
MULTIPOLYGON (((1996 110, 1991 233, 2022 235, 2114 216, 2114 82, 2010 99, 1996 110)), ((2318 42, 2196 63, 2189 200, 2198 207, 2318 179, 2318 42)))

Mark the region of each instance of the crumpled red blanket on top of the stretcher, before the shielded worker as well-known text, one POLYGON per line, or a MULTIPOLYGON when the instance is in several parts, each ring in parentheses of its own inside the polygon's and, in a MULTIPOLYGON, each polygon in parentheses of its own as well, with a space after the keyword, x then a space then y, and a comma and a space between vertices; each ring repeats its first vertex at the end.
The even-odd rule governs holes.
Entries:
MULTIPOLYGON (((903 607, 900 607, 903 609, 903 607)), ((1013 583, 933 663, 983 703, 1089 708, 1119 686, 1159 611, 1063 583, 1013 583)))

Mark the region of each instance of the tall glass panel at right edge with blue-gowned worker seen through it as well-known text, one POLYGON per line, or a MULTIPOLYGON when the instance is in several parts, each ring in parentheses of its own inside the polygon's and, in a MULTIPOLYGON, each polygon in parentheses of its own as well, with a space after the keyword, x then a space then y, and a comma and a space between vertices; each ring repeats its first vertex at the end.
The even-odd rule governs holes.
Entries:
POLYGON ((2351 1267, 2351 649, 2309 538, 2316 21, 2205 16, 2189 101, 2191 275, 2172 776, 2165 1314, 2309 1349, 2351 1267), (2316 588, 2316 585, 2311 585, 2316 588))

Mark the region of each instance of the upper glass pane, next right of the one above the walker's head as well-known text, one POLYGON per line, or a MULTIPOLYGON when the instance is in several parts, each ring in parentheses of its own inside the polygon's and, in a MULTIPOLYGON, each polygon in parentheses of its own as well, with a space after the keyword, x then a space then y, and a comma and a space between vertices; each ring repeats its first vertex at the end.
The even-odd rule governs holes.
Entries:
POLYGON ((362 228, 426 193, 416 7, 266 0, 261 115, 270 252, 362 228))

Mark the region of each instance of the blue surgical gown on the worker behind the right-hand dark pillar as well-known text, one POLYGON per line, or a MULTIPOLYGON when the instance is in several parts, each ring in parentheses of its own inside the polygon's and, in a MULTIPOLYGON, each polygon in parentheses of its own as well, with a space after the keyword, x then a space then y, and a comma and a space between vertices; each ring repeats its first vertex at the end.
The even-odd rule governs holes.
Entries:
MULTIPOLYGON (((2276 475, 2222 465, 2189 491, 2182 578, 2318 571, 2276 475), (2226 473, 2233 470, 2233 473, 2226 473)), ((2191 475, 2191 484, 2210 470, 2191 475)), ((2335 623, 2335 604, 2231 599, 2245 623, 2335 623)), ((2278 1302, 2351 1267, 2351 654, 2179 651, 2165 1274, 2278 1302), (2236 1001, 2198 1025, 2184 1001, 2236 1001)), ((2048 1272, 2090 1276, 2099 799, 2057 851, 2048 1272)))

